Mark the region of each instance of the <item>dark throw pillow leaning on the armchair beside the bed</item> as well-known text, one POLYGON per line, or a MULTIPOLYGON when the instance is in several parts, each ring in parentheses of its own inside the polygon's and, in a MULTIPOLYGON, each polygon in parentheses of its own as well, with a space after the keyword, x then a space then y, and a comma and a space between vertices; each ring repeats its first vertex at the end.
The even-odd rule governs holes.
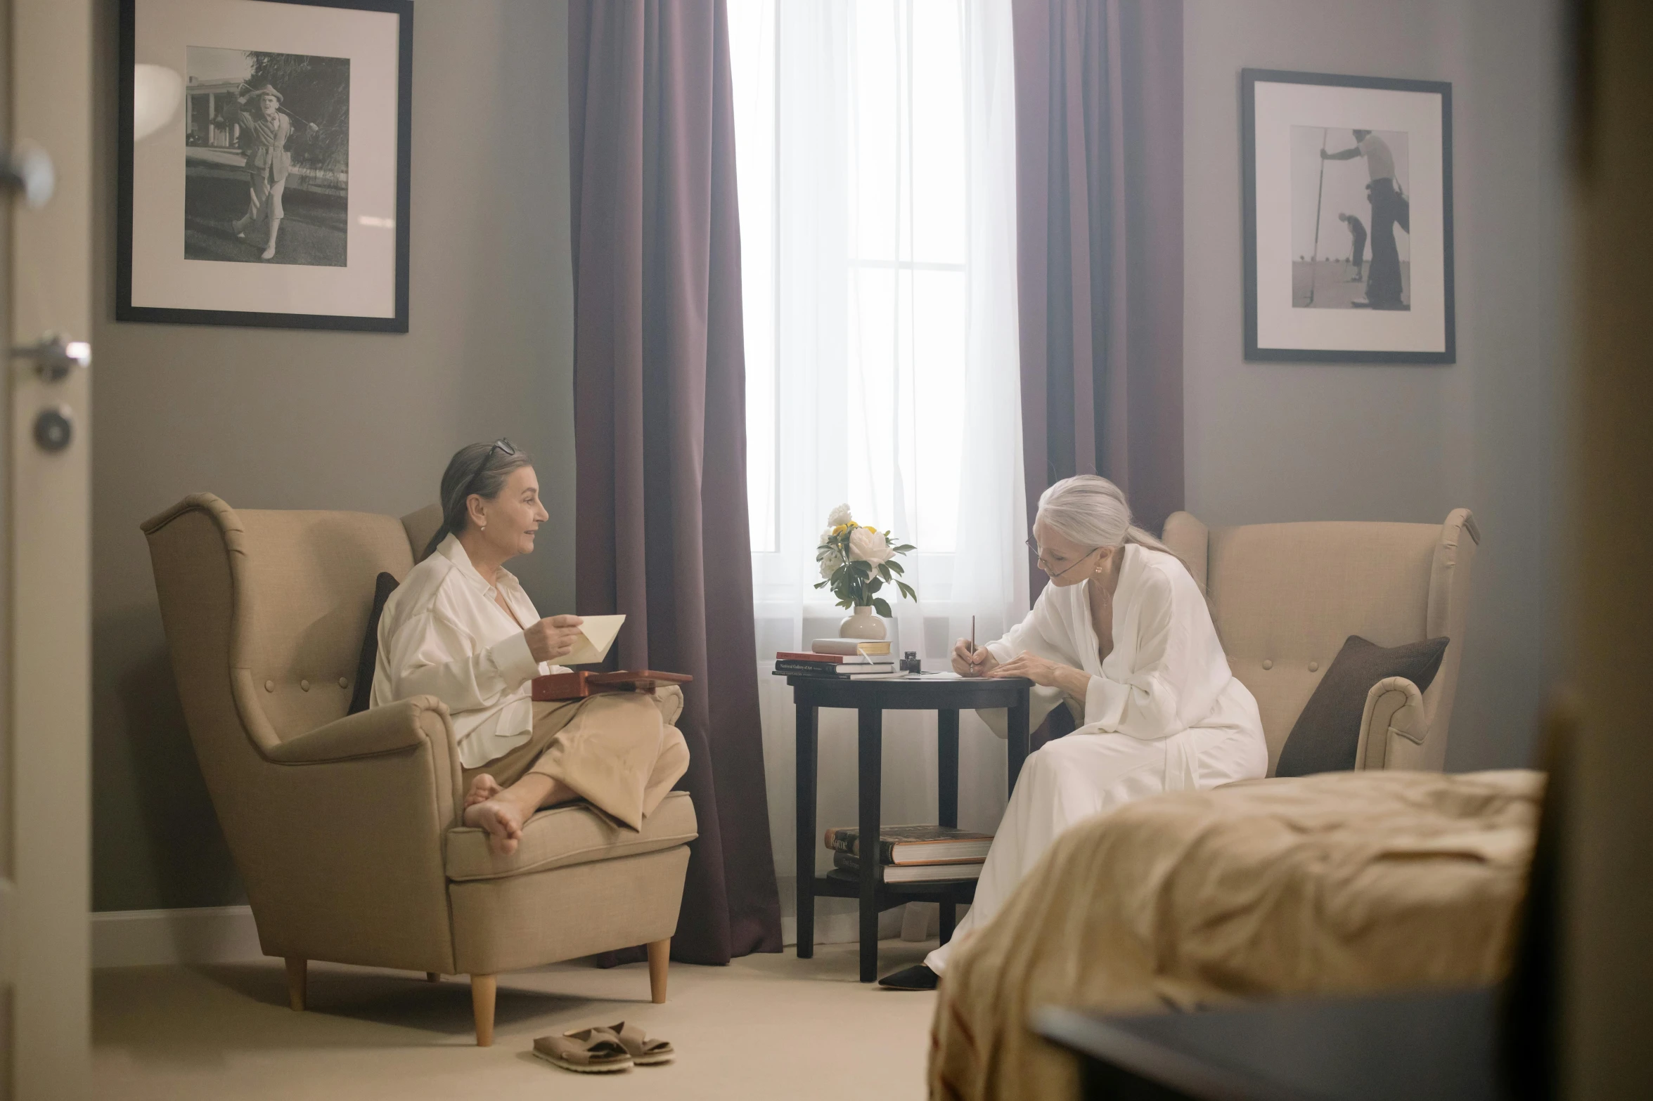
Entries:
POLYGON ((1303 706, 1279 751, 1274 776, 1311 776, 1354 768, 1360 746, 1360 718, 1372 685, 1385 677, 1405 677, 1428 692, 1446 654, 1446 639, 1425 639, 1405 645, 1377 645, 1349 636, 1332 667, 1303 706))

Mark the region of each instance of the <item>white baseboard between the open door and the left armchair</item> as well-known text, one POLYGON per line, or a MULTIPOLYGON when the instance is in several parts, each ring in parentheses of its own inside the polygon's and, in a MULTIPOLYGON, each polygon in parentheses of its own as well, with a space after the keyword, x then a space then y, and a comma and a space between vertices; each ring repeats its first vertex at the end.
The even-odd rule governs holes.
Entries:
POLYGON ((106 910, 91 914, 93 967, 264 959, 250 906, 106 910))

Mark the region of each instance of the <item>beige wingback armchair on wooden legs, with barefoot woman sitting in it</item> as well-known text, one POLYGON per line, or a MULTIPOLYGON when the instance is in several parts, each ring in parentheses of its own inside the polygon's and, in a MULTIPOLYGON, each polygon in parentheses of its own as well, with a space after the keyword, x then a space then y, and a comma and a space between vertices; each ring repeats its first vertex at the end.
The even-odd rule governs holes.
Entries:
POLYGON ((374 578, 435 532, 355 512, 236 512, 197 494, 144 523, 190 740, 264 952, 304 1007, 306 961, 468 974, 476 1042, 496 977, 648 944, 666 997, 694 806, 640 834, 584 804, 541 810, 511 857, 464 827, 448 710, 433 697, 345 715, 374 578))

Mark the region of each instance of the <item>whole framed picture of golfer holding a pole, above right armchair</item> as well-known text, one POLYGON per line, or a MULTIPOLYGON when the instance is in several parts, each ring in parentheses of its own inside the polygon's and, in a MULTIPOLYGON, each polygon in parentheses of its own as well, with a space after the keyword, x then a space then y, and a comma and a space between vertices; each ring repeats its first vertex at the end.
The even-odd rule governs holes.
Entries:
POLYGON ((1245 358, 1453 363, 1451 84, 1243 69, 1245 358))

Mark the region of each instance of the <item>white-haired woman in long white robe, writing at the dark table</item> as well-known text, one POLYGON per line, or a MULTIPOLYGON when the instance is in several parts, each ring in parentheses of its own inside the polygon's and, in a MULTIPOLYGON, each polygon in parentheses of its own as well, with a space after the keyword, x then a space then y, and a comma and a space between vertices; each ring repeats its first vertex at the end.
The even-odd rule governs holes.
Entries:
POLYGON ((1091 474, 1056 482, 1040 497, 1033 540, 1050 574, 1033 611, 982 649, 960 639, 952 664, 965 677, 1027 677, 1084 721, 1028 756, 970 913, 922 964, 886 976, 889 987, 934 989, 954 946, 1068 827, 1268 771, 1256 700, 1228 669, 1205 596, 1182 560, 1131 525, 1117 485, 1091 474))

